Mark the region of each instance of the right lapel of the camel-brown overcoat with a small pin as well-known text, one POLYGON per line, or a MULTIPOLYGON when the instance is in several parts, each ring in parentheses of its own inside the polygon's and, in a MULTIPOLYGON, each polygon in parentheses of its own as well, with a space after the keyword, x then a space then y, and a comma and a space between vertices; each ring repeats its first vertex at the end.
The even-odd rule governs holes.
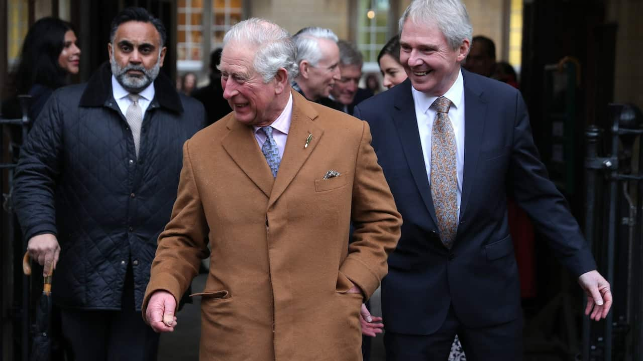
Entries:
MULTIPOLYGON (((319 144, 323 129, 313 121, 317 116, 316 110, 312 109, 308 101, 297 92, 293 92, 293 117, 285 143, 284 157, 279 165, 275 186, 273 186, 270 194, 268 206, 275 203, 280 195, 284 193, 287 186, 293 181, 294 176, 302 168, 303 163, 319 144), (304 147, 310 134, 312 134, 311 141, 307 147, 304 147)), ((264 163, 266 163, 265 160, 264 163)))

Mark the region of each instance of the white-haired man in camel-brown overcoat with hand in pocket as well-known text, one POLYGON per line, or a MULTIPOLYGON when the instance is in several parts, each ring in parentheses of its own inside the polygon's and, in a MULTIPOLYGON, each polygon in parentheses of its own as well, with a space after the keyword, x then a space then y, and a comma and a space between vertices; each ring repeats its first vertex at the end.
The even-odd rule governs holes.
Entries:
POLYGON ((174 330, 209 243, 201 360, 360 360, 360 306, 399 238, 367 123, 291 91, 295 54, 280 26, 235 24, 219 66, 233 112, 183 146, 143 308, 174 330))

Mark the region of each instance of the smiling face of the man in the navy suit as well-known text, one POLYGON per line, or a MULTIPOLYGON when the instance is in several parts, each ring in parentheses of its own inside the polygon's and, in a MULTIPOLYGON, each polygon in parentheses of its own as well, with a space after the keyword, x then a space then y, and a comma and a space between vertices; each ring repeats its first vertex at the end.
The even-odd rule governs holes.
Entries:
POLYGON ((469 51, 465 39, 453 49, 435 24, 406 20, 400 35, 400 62, 417 91, 442 96, 458 78, 460 62, 469 51))

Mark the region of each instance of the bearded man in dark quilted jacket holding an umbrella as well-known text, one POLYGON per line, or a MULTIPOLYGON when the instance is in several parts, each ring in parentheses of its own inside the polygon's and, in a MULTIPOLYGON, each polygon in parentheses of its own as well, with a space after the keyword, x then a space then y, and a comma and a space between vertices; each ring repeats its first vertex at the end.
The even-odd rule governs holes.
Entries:
POLYGON ((205 113, 159 74, 165 28, 143 8, 116 16, 107 50, 109 65, 45 105, 21 150, 14 206, 33 260, 55 269, 75 359, 156 360, 141 304, 181 146, 205 113))

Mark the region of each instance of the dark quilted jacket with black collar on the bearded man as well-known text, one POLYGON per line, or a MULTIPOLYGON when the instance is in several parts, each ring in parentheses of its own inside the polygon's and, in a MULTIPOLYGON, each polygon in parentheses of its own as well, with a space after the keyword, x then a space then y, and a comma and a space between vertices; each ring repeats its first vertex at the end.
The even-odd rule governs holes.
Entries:
POLYGON ((87 84, 53 92, 21 150, 15 211, 26 238, 58 238, 52 289, 61 307, 119 310, 131 262, 140 310, 176 198, 183 143, 205 123, 203 105, 179 96, 167 77, 154 89, 138 159, 109 64, 87 84))

